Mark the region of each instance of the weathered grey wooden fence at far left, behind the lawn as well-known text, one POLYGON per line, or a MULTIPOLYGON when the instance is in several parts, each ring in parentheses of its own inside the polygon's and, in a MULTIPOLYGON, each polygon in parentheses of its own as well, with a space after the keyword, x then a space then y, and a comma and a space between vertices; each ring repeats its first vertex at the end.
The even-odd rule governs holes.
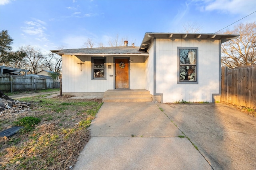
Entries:
POLYGON ((40 90, 46 88, 47 83, 45 78, 16 75, 0 76, 0 90, 2 91, 13 92, 17 90, 40 90))

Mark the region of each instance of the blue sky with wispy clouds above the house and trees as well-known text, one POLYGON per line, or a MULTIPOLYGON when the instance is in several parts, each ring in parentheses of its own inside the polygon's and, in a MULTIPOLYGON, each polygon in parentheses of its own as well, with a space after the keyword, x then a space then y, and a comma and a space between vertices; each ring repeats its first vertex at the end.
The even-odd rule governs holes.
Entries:
MULTIPOLYGON (((81 48, 88 38, 107 47, 117 34, 140 46, 146 32, 196 24, 214 33, 254 11, 255 0, 0 0, 0 30, 14 39, 13 50, 81 48)), ((234 25, 254 21, 256 13, 234 25)))

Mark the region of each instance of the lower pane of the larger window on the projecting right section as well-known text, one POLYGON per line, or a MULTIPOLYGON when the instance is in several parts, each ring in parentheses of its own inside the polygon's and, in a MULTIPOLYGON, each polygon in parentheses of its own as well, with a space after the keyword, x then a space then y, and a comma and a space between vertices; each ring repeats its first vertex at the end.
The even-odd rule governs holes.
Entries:
POLYGON ((196 81, 196 66, 180 66, 180 81, 196 81))

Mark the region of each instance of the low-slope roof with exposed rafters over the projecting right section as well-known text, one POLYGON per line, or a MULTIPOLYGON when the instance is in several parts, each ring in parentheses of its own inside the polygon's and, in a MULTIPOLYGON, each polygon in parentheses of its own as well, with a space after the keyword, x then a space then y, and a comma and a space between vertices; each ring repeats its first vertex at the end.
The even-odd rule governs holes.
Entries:
POLYGON ((139 51, 147 51, 154 38, 158 39, 220 39, 221 43, 229 41, 230 39, 236 39, 240 35, 232 34, 206 34, 206 33, 145 33, 139 51))

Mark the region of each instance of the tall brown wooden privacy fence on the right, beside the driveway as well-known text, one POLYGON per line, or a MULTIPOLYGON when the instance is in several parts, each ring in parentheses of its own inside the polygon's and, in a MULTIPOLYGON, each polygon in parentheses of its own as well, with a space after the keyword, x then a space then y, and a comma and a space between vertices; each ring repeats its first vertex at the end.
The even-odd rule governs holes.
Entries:
POLYGON ((256 107, 256 65, 221 70, 221 101, 256 107))

